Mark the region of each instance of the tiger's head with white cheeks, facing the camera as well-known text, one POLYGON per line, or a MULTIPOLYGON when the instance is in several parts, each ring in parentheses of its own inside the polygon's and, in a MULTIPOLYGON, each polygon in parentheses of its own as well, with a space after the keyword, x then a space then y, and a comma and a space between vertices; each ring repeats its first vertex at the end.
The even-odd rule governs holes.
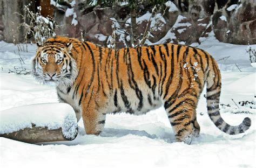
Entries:
POLYGON ((72 43, 46 41, 37 44, 37 53, 32 61, 32 74, 43 83, 71 86, 77 77, 77 65, 72 57, 72 43))

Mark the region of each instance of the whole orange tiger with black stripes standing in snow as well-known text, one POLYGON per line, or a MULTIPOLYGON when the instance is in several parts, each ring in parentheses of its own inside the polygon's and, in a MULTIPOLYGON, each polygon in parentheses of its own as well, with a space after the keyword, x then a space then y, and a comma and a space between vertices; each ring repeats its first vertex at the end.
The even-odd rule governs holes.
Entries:
POLYGON ((107 48, 56 36, 37 44, 32 74, 55 82, 59 102, 70 104, 86 134, 99 135, 106 114, 146 114, 164 106, 177 142, 199 136, 196 108, 206 83, 207 112, 215 126, 230 135, 251 126, 245 117, 232 126, 220 116, 221 74, 213 57, 180 44, 107 48))

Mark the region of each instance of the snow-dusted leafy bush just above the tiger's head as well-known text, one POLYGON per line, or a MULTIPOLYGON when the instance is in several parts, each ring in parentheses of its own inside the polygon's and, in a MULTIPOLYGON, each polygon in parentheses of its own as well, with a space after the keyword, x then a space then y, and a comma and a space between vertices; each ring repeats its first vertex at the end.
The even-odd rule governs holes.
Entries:
POLYGON ((25 30, 25 43, 28 39, 33 38, 39 44, 43 44, 44 41, 50 37, 55 37, 54 32, 57 26, 55 21, 50 17, 43 17, 41 15, 41 7, 37 8, 37 12, 34 13, 29 9, 30 5, 24 6, 24 15, 22 16, 23 23, 19 26, 23 26, 25 30), (29 22, 28 22, 29 20, 29 22))

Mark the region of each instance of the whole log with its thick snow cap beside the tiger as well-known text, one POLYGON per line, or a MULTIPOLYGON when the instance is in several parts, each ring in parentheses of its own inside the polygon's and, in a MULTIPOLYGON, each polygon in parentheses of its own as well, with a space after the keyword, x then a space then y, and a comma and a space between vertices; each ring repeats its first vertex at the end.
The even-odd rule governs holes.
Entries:
POLYGON ((0 137, 17 141, 71 141, 78 134, 75 111, 65 103, 16 107, 0 111, 0 116, 0 137))

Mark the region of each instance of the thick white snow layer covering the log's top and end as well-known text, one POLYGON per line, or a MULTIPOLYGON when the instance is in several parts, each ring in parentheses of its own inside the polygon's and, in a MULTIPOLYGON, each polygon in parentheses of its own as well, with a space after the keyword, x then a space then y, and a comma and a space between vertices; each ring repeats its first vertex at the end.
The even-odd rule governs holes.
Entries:
MULTIPOLYGON (((2 89, 2 88, 1 88, 2 89)), ((11 133, 24 128, 63 128, 66 138, 76 136, 77 119, 75 111, 65 103, 42 103, 20 106, 0 111, 0 134, 11 133)))

